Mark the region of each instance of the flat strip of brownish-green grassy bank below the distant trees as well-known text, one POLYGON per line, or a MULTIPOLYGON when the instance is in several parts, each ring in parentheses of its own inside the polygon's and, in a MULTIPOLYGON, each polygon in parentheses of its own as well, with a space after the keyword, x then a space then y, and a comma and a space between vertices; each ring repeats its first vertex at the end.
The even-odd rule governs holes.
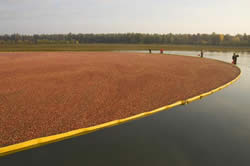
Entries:
POLYGON ((250 52, 250 47, 159 44, 0 44, 0 52, 17 51, 119 51, 119 50, 183 50, 250 52))

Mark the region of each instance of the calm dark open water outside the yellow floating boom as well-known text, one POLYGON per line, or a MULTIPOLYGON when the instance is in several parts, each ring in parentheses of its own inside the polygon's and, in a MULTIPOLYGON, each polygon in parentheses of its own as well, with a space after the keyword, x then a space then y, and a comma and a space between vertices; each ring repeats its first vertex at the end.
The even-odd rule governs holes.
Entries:
MULTIPOLYGON (((230 52, 205 57, 232 61, 230 52)), ((0 165, 249 166, 250 55, 241 53, 238 66, 243 74, 238 82, 203 100, 6 156, 0 165)))

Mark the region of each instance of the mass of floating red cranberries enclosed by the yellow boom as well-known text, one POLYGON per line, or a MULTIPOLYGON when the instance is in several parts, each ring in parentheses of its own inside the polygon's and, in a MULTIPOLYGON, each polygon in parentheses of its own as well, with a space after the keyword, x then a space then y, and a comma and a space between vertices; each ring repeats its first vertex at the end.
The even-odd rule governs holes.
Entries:
POLYGON ((0 53, 0 147, 151 111, 239 74, 231 64, 197 57, 0 53))

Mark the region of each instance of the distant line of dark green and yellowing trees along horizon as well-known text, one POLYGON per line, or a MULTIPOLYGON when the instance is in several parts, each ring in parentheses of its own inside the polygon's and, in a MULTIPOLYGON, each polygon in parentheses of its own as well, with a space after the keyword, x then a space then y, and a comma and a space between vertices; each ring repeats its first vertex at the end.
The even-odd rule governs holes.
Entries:
POLYGON ((215 45, 215 46, 250 46, 247 34, 34 34, 0 35, 0 44, 177 44, 177 45, 215 45))

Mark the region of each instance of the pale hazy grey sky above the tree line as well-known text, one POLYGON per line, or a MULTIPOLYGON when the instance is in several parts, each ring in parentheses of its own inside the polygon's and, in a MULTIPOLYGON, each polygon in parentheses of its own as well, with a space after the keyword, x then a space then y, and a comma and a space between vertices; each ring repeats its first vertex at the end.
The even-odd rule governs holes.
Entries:
POLYGON ((0 34, 247 33, 250 0, 0 0, 0 34))

